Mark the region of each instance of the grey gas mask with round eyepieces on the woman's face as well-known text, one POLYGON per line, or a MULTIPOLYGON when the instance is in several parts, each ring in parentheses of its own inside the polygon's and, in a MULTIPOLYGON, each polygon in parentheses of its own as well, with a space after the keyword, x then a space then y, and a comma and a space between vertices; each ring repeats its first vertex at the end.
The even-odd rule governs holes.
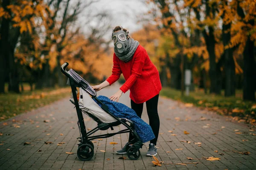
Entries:
POLYGON ((112 40, 116 50, 119 53, 126 54, 128 51, 128 33, 121 29, 118 32, 112 32, 112 40))

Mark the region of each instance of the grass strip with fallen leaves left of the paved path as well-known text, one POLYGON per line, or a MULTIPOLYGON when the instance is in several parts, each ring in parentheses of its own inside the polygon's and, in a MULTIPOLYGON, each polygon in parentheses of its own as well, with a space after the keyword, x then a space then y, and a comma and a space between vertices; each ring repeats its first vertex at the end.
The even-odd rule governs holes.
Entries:
POLYGON ((43 107, 52 102, 71 95, 70 87, 47 88, 30 91, 24 88, 24 92, 0 94, 0 121, 43 107))

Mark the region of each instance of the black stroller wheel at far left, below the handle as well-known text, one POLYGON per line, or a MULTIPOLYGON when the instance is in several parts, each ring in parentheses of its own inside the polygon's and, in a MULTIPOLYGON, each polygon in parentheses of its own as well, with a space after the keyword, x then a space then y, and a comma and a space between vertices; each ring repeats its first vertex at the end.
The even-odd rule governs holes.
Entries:
POLYGON ((90 144, 82 144, 77 149, 77 156, 82 161, 89 161, 93 157, 93 147, 90 144))

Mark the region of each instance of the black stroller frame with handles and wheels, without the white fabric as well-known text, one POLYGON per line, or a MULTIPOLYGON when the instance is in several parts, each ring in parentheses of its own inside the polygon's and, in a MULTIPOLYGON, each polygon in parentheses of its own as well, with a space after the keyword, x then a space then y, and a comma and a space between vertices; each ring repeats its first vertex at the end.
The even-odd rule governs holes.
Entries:
POLYGON ((137 135, 137 133, 134 130, 134 123, 128 119, 123 119, 123 118, 119 119, 115 115, 113 115, 111 112, 109 112, 108 106, 103 104, 96 97, 95 91, 94 91, 95 94, 91 94, 90 92, 88 92, 87 88, 88 88, 88 86, 90 86, 90 84, 88 84, 83 78, 81 78, 81 76, 79 76, 72 69, 71 69, 72 72, 70 72, 70 73, 73 75, 73 77, 70 75, 69 72, 66 71, 66 68, 68 65, 69 65, 69 63, 67 63, 67 62, 64 63, 61 66, 61 72, 64 75, 66 75, 68 78, 68 83, 71 86, 72 95, 73 95, 73 99, 74 99, 74 101, 72 101, 71 99, 70 99, 70 101, 75 105, 76 113, 78 116, 77 124, 79 127, 79 133, 80 133, 79 138, 81 139, 81 140, 79 140, 80 144, 78 144, 79 147, 77 150, 77 156, 79 157, 79 159, 81 159, 82 161, 88 161, 93 157, 94 145, 93 145, 93 142, 91 142, 91 140, 96 139, 96 138, 108 138, 113 135, 121 134, 121 133, 131 133, 132 135, 134 135, 134 139, 132 141, 129 141, 129 144, 127 145, 125 150, 127 152, 128 158, 130 158, 131 160, 137 160, 140 157, 140 148, 142 148, 143 143, 141 142, 140 137, 137 135), (107 112, 109 115, 111 115, 113 118, 115 118, 116 121, 111 122, 111 123, 104 123, 104 122, 100 121, 99 118, 90 114, 89 112, 81 110, 79 108, 79 102, 78 102, 77 95, 76 95, 77 87, 81 87, 82 89, 84 89, 86 92, 88 92, 91 95, 91 97, 93 99, 95 99, 100 104, 102 104, 101 108, 105 112, 107 112), (90 130, 89 132, 87 132, 86 128, 85 128, 82 112, 85 112, 90 118, 92 118, 94 121, 96 121, 98 123, 98 126, 95 127, 94 129, 90 130), (126 122, 129 122, 130 126, 126 122), (111 128, 111 130, 113 130, 113 127, 118 126, 119 124, 123 124, 127 129, 120 130, 119 132, 116 132, 116 133, 107 133, 107 134, 102 134, 102 135, 91 136, 93 133, 96 133, 98 130, 108 130, 109 128, 111 128))

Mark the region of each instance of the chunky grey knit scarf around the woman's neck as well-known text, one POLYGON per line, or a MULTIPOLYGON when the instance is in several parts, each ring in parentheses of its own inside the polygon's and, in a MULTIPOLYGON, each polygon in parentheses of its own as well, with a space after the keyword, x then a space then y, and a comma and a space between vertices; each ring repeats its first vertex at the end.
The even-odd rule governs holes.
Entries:
POLYGON ((117 56, 120 60, 122 60, 122 61, 124 61, 125 63, 127 63, 128 61, 131 60, 131 58, 132 58, 132 56, 134 55, 134 53, 135 53, 135 51, 136 51, 136 49, 137 49, 138 46, 139 46, 139 42, 138 42, 138 41, 136 41, 136 40, 134 40, 134 39, 132 39, 132 38, 129 38, 129 39, 128 39, 128 50, 127 50, 127 52, 125 52, 125 53, 119 53, 119 52, 116 50, 115 47, 114 47, 114 52, 115 52, 116 56, 117 56))

